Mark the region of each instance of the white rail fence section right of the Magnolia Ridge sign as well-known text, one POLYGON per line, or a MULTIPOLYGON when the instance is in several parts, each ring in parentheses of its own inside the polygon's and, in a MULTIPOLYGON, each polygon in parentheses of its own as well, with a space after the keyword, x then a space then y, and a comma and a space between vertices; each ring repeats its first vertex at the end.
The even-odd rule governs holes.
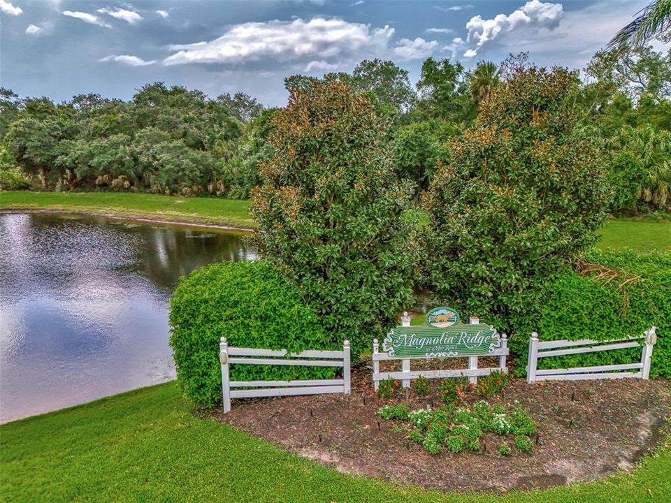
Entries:
POLYGON ((635 377, 648 379, 650 374, 650 358, 652 348, 657 342, 656 327, 649 328, 640 337, 629 339, 614 339, 607 341, 584 340, 556 340, 541 342, 538 334, 532 333, 529 339, 529 356, 526 365, 526 381, 531 384, 535 381, 577 381, 579 379, 621 379, 635 377), (643 340, 641 343, 640 341, 643 340), (595 351, 613 351, 642 347, 641 360, 636 363, 619 365, 593 365, 591 367, 571 367, 564 369, 538 370, 538 358, 549 356, 563 356, 579 353, 593 353, 595 351), (623 372, 626 371, 626 372, 623 372), (633 371, 633 372, 632 372, 633 371))

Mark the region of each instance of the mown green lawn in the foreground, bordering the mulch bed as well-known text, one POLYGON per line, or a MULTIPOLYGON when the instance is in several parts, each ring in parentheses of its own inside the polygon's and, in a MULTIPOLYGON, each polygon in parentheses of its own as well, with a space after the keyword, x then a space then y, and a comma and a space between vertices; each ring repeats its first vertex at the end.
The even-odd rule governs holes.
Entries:
MULTIPOLYGON (((669 444, 633 474, 604 481, 530 493, 442 493, 341 474, 198 418, 174 383, 3 425, 0 442, 0 495, 5 501, 671 500, 669 444)), ((459 462, 458 456, 454 460, 459 462)))

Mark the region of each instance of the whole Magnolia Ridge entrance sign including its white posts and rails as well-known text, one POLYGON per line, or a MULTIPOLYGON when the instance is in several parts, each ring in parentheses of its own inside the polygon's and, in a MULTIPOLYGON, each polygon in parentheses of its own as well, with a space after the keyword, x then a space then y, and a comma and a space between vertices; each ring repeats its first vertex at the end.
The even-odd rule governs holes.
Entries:
POLYGON ((435 307, 426 314, 426 324, 410 326, 410 317, 403 313, 402 326, 392 328, 380 343, 373 341, 373 383, 377 391, 380 381, 399 379, 405 388, 410 380, 422 376, 427 379, 445 377, 468 377, 477 383, 478 376, 494 370, 507 372, 507 337, 496 328, 480 323, 477 317, 470 323, 460 323, 461 317, 452 307, 435 307), (380 351, 382 349, 382 352, 380 351), (479 368, 478 358, 498 357, 498 367, 479 368), (468 368, 457 370, 410 370, 410 361, 418 358, 468 358, 468 368), (380 362, 401 361, 401 372, 380 372, 380 362))

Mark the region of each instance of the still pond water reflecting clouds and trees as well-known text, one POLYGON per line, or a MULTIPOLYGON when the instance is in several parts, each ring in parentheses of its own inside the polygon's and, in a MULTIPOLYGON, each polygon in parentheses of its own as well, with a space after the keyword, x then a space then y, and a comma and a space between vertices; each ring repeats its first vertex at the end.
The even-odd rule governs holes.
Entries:
POLYGON ((0 214, 0 422, 175 377, 178 279, 252 258, 243 233, 0 214))

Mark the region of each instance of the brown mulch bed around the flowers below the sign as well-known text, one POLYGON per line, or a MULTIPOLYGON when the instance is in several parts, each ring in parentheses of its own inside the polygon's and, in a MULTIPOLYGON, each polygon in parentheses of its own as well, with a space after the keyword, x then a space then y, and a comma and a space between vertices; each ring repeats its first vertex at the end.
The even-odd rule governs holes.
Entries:
MULTIPOLYGON (((417 365, 413 364, 413 369, 417 365)), ((421 364, 419 366, 421 368, 421 364)), ((411 409, 440 406, 432 393, 383 402, 373 393, 370 369, 353 369, 352 394, 234 400, 219 420, 273 441, 291 453, 351 474, 444 490, 500 491, 589 481, 635 462, 660 442, 671 417, 671 383, 640 379, 544 381, 510 379, 503 396, 518 400, 537 422, 533 453, 498 455, 500 437, 486 434, 479 452, 431 455, 405 439, 401 423, 382 421, 384 403, 407 400, 411 409)), ((476 393, 470 403, 481 400, 476 393)))

